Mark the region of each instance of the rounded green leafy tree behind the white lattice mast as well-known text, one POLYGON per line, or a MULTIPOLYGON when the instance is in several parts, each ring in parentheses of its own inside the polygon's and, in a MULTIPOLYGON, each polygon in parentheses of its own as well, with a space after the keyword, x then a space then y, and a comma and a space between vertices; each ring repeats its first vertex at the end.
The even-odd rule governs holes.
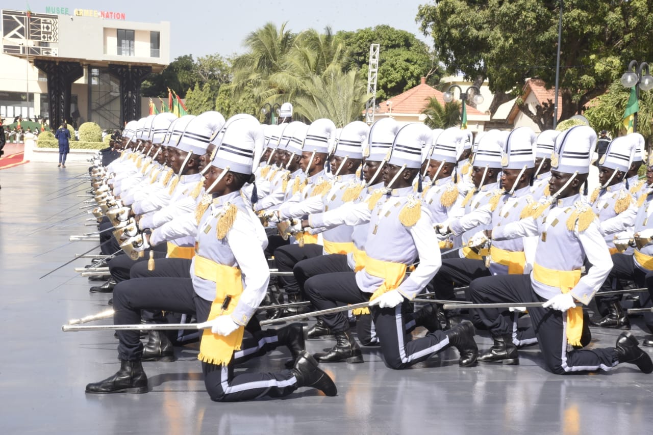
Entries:
POLYGON ((370 45, 379 44, 376 93, 379 100, 419 85, 421 77, 427 77, 430 85, 439 82, 442 70, 434 54, 410 32, 377 25, 357 31, 340 31, 336 37, 345 47, 345 70, 360 68, 364 77, 368 74, 370 45))

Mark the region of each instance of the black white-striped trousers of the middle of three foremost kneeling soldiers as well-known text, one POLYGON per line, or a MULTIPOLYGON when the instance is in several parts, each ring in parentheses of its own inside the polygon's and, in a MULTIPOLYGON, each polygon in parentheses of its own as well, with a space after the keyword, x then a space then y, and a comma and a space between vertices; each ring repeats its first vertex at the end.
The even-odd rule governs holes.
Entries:
MULTIPOLYGON (((354 272, 327 273, 306 281, 306 294, 318 310, 339 307, 345 303, 360 303, 370 299, 370 293, 361 292, 356 284, 354 272)), ((409 311, 409 303, 394 308, 370 307, 372 321, 379 342, 383 359, 390 368, 405 368, 449 346, 449 337, 443 331, 429 333, 425 337, 411 340, 411 316, 404 314, 409 311)), ((343 312, 323 316, 325 323, 332 331, 346 331, 349 327, 347 317, 343 312)))

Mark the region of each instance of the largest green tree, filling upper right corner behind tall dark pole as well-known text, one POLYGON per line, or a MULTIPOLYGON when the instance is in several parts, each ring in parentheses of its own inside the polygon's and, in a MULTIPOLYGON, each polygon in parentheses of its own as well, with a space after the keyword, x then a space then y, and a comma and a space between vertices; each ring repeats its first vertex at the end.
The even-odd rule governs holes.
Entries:
MULTIPOLYGON (((526 78, 554 86, 560 1, 438 0, 421 5, 417 22, 434 38, 451 73, 488 78, 500 104, 520 94, 526 78)), ((565 0, 560 46, 560 120, 582 112, 605 92, 631 59, 650 59, 653 3, 647 0, 565 0)), ((531 116, 550 128, 553 104, 531 116)))

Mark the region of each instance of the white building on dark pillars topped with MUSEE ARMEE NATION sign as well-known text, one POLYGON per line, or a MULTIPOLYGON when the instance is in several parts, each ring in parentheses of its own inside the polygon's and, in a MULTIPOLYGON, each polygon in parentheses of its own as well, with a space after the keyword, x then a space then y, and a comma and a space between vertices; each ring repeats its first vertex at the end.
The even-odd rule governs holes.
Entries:
POLYGON ((20 116, 55 128, 63 121, 121 128, 142 115, 143 80, 170 63, 169 22, 93 10, 1 13, 0 117, 8 123, 20 116))

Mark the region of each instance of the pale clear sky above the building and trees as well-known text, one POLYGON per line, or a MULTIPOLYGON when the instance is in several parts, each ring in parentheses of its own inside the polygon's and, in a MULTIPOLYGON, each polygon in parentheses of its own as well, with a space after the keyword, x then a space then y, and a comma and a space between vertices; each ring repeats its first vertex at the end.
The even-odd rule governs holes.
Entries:
MULTIPOLYGON (((46 12, 46 7, 72 10, 96 9, 124 12, 127 21, 170 22, 172 38, 170 60, 184 54, 199 57, 219 53, 229 56, 242 53, 242 41, 247 34, 266 22, 299 32, 304 29, 322 30, 329 25, 334 32, 356 30, 387 24, 415 33, 432 45, 432 40, 419 33, 415 16, 417 7, 432 0, 14 0, 2 8, 46 12)), ((7 2, 5 2, 7 3, 7 2)), ((81 35, 80 35, 81 36, 81 35)))

